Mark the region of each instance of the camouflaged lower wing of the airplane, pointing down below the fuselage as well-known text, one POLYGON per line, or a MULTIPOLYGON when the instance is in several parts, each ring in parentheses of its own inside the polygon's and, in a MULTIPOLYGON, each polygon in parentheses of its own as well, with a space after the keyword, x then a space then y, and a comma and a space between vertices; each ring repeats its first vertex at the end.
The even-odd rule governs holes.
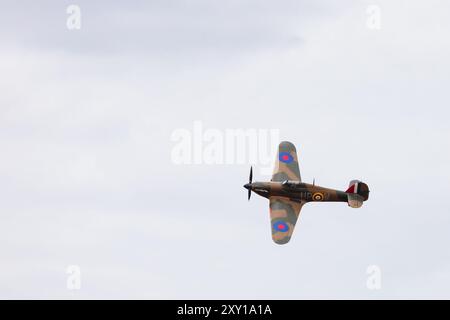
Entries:
POLYGON ((288 243, 304 202, 295 202, 284 197, 270 197, 269 200, 272 239, 277 244, 288 243))

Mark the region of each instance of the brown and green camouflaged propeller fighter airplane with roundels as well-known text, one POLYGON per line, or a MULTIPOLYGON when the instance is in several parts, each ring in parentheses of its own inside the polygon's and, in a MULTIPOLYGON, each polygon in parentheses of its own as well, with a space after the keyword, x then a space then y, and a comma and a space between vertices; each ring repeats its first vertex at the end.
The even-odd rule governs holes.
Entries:
POLYGON ((308 202, 347 202, 352 208, 359 208, 369 199, 369 187, 359 180, 351 180, 346 191, 324 188, 302 182, 298 168, 295 146, 283 141, 278 154, 272 179, 269 182, 252 182, 253 168, 250 167, 248 200, 252 191, 270 201, 272 239, 276 244, 286 244, 292 237, 300 210, 308 202))

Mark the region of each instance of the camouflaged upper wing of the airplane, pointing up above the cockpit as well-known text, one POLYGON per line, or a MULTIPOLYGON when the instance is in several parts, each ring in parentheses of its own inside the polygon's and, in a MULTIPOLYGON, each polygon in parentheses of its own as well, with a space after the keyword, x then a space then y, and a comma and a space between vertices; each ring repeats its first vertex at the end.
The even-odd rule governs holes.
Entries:
POLYGON ((275 160, 275 169, 271 181, 283 182, 285 180, 301 181, 298 168, 298 158, 295 146, 289 141, 283 141, 278 146, 275 160))

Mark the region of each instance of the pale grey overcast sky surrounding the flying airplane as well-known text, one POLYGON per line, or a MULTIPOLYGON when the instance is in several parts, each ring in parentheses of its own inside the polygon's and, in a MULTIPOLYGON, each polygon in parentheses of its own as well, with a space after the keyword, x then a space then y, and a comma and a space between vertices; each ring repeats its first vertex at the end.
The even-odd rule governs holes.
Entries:
POLYGON ((450 298, 447 1, 0 4, 0 298, 450 298), (276 245, 262 163, 173 160, 195 123, 370 199, 276 245))

